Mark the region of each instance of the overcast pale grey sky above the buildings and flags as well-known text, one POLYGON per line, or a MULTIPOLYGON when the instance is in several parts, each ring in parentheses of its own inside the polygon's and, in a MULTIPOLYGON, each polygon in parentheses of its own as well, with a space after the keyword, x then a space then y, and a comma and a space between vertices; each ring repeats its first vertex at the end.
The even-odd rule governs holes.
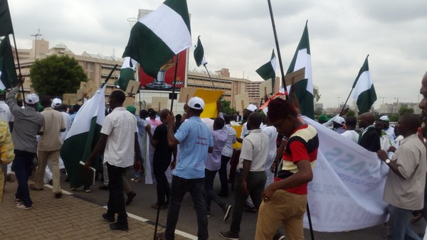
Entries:
MULTIPOLYGON (((74 53, 121 57, 138 9, 161 0, 9 0, 18 48, 31 48, 40 33, 50 47, 74 53)), ((275 48, 267 0, 188 0, 193 45, 201 36, 209 70, 226 67, 231 77, 261 80, 255 70, 275 48)), ((313 82, 324 107, 337 107, 351 90, 364 58, 378 100, 418 102, 427 70, 427 1, 272 0, 283 65, 295 53, 308 19, 313 82)), ((191 48, 189 69, 196 67, 191 48)), ((201 70, 201 69, 199 69, 201 70)), ((276 72, 280 76, 279 65, 276 72)), ((351 98, 350 98, 351 99, 351 98)), ((352 100, 351 100, 352 101, 352 100)))

